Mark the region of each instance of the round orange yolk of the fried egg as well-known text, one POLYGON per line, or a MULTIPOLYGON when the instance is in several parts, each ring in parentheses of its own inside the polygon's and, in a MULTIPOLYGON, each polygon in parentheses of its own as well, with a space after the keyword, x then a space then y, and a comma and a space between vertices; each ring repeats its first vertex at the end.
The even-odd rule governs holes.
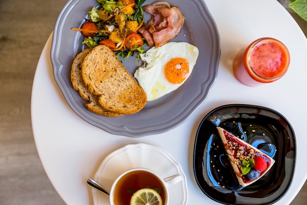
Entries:
POLYGON ((184 81, 189 73, 189 62, 186 59, 175 58, 168 61, 164 68, 166 79, 172 84, 184 81))

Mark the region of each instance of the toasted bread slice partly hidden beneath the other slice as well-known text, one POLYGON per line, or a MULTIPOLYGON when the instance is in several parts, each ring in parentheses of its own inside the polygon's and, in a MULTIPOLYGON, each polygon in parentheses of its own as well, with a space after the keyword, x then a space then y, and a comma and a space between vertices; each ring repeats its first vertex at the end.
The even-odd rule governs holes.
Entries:
POLYGON ((77 90, 79 95, 84 100, 89 101, 87 104, 84 105, 85 108, 87 108, 89 111, 97 115, 106 116, 106 117, 122 116, 123 114, 118 114, 103 109, 98 103, 99 97, 94 95, 93 93, 90 93, 85 87, 84 81, 82 79, 81 67, 84 58, 91 50, 92 49, 85 49, 81 51, 79 54, 77 54, 76 58, 73 61, 72 70, 71 70, 71 81, 73 84, 73 88, 77 90))

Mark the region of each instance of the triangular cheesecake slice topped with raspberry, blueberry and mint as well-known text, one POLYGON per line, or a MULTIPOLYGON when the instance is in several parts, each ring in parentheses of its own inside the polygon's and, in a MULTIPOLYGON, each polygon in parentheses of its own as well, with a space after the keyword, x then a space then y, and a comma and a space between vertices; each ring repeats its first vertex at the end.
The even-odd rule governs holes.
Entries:
POLYGON ((240 185, 256 182, 272 168, 275 161, 270 156, 221 127, 217 130, 240 185))

